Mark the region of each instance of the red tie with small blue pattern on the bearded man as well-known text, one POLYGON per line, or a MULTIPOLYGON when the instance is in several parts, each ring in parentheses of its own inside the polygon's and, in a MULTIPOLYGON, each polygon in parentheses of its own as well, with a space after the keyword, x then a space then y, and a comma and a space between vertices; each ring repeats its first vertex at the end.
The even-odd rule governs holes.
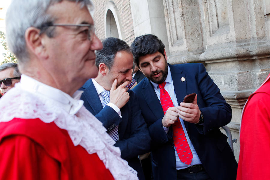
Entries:
MULTIPOLYGON (((166 82, 164 81, 162 84, 158 85, 160 89, 160 102, 161 102, 164 114, 166 113, 169 107, 173 107, 173 101, 170 95, 168 94, 168 92, 164 88, 165 84, 166 82)), ((173 124, 173 142, 174 142, 174 146, 175 146, 175 149, 179 156, 180 161, 182 161, 185 164, 190 165, 193 155, 187 143, 187 138, 185 136, 185 133, 184 133, 184 130, 180 121, 177 121, 173 124)))

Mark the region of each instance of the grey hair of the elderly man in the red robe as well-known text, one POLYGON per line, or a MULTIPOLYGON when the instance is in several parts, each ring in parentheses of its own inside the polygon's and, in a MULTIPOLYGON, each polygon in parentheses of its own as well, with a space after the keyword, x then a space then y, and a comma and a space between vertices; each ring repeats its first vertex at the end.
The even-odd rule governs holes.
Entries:
MULTIPOLYGON (((41 28, 44 23, 53 22, 55 17, 48 14, 47 9, 63 0, 12 0, 6 13, 6 38, 11 52, 16 55, 19 63, 29 60, 25 42, 25 31, 29 27, 41 28)), ((68 0, 87 7, 93 13, 91 0, 68 0)), ((46 29, 48 37, 52 37, 54 28, 46 29)))

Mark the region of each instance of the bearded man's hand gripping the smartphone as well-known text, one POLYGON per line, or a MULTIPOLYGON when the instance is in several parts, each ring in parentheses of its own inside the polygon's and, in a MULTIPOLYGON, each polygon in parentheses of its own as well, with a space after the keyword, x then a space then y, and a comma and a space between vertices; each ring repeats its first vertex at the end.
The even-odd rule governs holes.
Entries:
POLYGON ((192 103, 180 103, 180 106, 177 107, 177 112, 178 116, 184 121, 198 123, 201 111, 197 104, 197 95, 192 103))

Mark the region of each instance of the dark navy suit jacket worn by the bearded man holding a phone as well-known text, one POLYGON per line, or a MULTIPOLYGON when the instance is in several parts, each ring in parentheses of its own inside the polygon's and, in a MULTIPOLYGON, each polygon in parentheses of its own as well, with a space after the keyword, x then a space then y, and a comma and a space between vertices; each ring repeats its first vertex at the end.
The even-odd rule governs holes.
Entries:
MULTIPOLYGON (((236 179, 237 162, 220 127, 231 121, 232 110, 210 78, 203 64, 187 63, 170 65, 178 104, 185 95, 195 92, 197 103, 204 116, 204 125, 185 122, 188 136, 213 180, 236 179), (181 78, 185 81, 182 82, 181 78)), ((176 160, 172 128, 168 134, 162 127, 164 116, 152 83, 144 78, 133 89, 139 100, 143 117, 152 138, 152 169, 155 180, 176 180, 176 160)))

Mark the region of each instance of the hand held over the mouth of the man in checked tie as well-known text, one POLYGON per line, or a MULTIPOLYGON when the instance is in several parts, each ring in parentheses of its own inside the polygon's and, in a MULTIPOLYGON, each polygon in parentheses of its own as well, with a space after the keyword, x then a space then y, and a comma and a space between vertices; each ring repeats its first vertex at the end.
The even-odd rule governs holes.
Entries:
POLYGON ((110 90, 110 103, 115 104, 119 109, 121 109, 129 100, 128 88, 125 88, 130 82, 126 81, 123 84, 117 85, 117 79, 114 80, 112 88, 110 90))

